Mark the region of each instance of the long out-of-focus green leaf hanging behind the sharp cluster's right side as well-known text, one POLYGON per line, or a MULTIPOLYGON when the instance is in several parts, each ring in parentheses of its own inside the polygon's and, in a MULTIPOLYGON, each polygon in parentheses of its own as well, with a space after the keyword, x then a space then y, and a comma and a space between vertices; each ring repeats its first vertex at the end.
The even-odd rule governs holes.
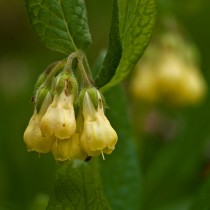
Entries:
POLYGON ((118 134, 118 142, 112 154, 100 164, 105 193, 112 209, 139 210, 141 174, 122 89, 117 86, 111 91, 107 102, 111 106, 107 116, 118 134))

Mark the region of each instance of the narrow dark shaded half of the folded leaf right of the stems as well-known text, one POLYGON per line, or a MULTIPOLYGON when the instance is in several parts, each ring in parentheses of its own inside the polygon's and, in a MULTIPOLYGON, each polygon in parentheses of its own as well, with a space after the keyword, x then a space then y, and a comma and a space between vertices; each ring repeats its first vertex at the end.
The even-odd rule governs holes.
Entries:
POLYGON ((107 84, 114 76, 122 56, 122 46, 119 34, 118 1, 113 1, 112 23, 109 33, 109 46, 103 65, 99 70, 95 83, 98 88, 107 84))

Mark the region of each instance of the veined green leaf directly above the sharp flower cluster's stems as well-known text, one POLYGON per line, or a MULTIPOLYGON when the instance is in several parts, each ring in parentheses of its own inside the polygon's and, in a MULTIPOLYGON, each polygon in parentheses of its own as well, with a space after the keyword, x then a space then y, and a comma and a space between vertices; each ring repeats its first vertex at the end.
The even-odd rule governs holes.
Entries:
POLYGON ((52 50, 69 55, 91 42, 84 0, 25 0, 31 24, 52 50))

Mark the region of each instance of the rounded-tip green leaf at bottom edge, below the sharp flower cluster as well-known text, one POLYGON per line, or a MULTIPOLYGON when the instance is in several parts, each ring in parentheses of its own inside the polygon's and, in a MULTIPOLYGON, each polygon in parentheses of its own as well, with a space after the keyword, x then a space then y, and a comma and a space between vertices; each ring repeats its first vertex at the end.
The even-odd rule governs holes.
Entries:
POLYGON ((110 210, 94 167, 66 162, 58 170, 47 210, 110 210))

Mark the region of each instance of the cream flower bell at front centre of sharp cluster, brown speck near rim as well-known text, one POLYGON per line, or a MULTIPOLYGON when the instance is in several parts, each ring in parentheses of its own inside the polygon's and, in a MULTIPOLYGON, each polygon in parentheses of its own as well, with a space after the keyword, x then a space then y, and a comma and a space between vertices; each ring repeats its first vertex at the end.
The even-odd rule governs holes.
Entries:
POLYGON ((55 135, 59 139, 66 139, 73 135, 76 129, 73 102, 74 96, 67 96, 64 91, 55 95, 41 119, 41 131, 44 136, 55 135))

